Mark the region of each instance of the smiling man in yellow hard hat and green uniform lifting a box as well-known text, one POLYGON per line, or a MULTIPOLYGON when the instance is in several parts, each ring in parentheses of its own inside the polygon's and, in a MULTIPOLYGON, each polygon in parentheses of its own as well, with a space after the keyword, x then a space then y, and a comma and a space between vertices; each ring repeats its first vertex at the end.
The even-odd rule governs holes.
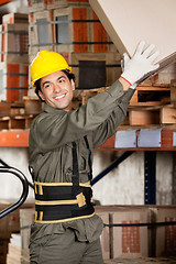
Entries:
MULTIPOLYGON (((101 264, 101 219, 92 206, 91 150, 116 133, 134 92, 130 88, 154 70, 158 52, 141 42, 107 91, 73 110, 74 75, 57 53, 42 51, 31 65, 32 85, 44 112, 30 132, 30 169, 35 186, 31 264, 101 264), (129 89, 130 88, 130 89, 129 89)), ((85 76, 86 78, 86 76, 85 76)), ((95 76, 94 76, 95 78, 95 76)), ((134 88, 133 87, 133 88, 134 88)))

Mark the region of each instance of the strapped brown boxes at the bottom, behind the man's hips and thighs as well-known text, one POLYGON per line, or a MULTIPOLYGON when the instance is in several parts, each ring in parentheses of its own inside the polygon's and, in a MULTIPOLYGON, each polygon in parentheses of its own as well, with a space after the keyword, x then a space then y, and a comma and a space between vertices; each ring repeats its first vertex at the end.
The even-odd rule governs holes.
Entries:
MULTIPOLYGON (((176 206, 96 206, 95 209, 105 223, 100 238, 105 261, 143 263, 142 260, 152 257, 145 263, 153 263, 156 257, 176 256, 176 206)), ((30 227, 33 219, 34 209, 20 210, 25 258, 29 257, 30 229, 23 227, 30 227)), ((166 262, 169 261, 157 263, 166 262)))

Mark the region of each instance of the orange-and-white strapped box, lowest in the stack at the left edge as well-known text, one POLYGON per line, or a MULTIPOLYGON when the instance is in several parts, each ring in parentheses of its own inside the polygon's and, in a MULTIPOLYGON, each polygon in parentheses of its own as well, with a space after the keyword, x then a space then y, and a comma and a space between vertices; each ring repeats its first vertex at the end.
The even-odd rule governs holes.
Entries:
POLYGON ((0 100, 20 101, 28 95, 29 65, 0 63, 0 100))

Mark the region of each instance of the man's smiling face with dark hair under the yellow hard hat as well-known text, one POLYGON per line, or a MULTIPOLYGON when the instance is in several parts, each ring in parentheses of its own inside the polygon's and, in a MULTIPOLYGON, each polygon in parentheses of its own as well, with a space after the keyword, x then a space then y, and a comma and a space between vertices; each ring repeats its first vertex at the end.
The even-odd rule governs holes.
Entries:
POLYGON ((41 79, 40 97, 52 108, 65 111, 72 110, 74 80, 69 80, 65 73, 58 70, 41 79))

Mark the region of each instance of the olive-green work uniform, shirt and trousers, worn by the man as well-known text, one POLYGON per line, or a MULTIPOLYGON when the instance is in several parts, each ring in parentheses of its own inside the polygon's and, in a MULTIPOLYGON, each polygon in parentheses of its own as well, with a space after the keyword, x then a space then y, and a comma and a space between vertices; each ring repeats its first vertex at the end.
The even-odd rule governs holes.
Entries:
MULTIPOLYGON (((84 136, 87 136, 91 150, 102 145, 116 133, 117 127, 123 121, 133 92, 133 89, 123 91, 122 85, 117 80, 107 91, 90 98, 87 105, 78 110, 66 112, 45 103, 44 111, 34 119, 30 131, 30 168, 33 180, 70 183, 72 142, 76 142, 79 182, 88 183, 89 150, 84 136)), ((100 264, 102 261, 99 238, 102 228, 102 221, 97 215, 57 223, 34 222, 30 242, 31 263, 100 264), (62 245, 59 240, 75 241, 77 245, 74 248, 75 245, 69 243, 62 243, 63 250, 56 249, 57 244, 62 245), (64 246, 67 246, 66 253, 64 246), (75 250, 72 251, 70 248, 75 250), (73 260, 68 256, 68 251, 72 252, 73 260), (79 251, 80 254, 78 254, 79 251), (59 252, 65 254, 63 258, 59 252), (86 258, 88 252, 92 258, 86 258), (77 261, 75 256, 78 257, 77 261)))

